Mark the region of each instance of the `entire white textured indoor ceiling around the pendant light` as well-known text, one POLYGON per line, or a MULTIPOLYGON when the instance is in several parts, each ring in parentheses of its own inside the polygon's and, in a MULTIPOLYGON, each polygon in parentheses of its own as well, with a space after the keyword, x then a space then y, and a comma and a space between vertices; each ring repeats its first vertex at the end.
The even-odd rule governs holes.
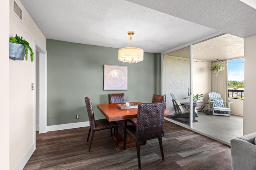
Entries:
POLYGON ((256 35, 256 10, 239 0, 20 2, 47 39, 74 43, 129 47, 127 31, 133 30, 132 47, 162 53, 216 33, 256 35))

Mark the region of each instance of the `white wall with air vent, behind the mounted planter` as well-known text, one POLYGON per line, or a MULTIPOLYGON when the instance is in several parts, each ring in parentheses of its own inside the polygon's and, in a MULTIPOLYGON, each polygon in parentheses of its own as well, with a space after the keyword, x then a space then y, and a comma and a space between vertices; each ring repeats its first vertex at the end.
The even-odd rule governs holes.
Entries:
MULTIPOLYGON (((10 36, 18 34, 34 48, 35 38, 46 49, 46 38, 26 12, 19 0, 16 3, 22 9, 22 22, 12 12, 10 0, 10 36)), ((36 49, 33 49, 34 53, 36 49)), ((8 55, 6 56, 8 57, 8 55)), ((27 156, 34 150, 34 91, 33 64, 30 61, 9 59, 10 67, 10 169, 22 168, 27 156)))

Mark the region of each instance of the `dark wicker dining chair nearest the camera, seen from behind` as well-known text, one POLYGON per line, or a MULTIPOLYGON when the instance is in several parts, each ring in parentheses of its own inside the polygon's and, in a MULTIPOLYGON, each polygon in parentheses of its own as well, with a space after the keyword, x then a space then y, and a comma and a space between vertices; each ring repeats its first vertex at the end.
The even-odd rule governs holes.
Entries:
POLYGON ((131 120, 125 121, 124 131, 124 150, 126 149, 126 136, 127 133, 136 141, 138 166, 140 166, 140 142, 144 142, 150 139, 158 138, 162 161, 164 161, 164 150, 162 145, 162 130, 164 120, 164 109, 166 103, 150 103, 150 104, 139 104, 137 123, 131 120), (132 125, 127 125, 127 121, 132 125))

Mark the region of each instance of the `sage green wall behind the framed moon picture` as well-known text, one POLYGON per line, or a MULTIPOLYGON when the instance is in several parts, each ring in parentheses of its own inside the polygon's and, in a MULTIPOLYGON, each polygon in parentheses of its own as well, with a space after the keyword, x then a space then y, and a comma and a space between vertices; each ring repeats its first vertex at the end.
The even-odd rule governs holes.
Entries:
POLYGON ((152 101, 160 94, 160 54, 145 53, 140 63, 118 61, 118 49, 47 39, 47 125, 88 121, 84 98, 96 107, 108 103, 109 93, 124 93, 126 102, 152 101), (104 64, 128 66, 128 90, 103 90, 104 64), (80 119, 76 119, 80 115, 80 119))

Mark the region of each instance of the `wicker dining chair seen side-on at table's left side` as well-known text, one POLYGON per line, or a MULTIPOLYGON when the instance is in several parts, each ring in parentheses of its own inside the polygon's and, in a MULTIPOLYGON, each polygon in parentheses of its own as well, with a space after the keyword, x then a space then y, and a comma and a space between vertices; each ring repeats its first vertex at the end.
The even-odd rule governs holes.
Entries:
MULTIPOLYGON (((91 137, 88 152, 90 153, 90 149, 92 147, 92 140, 93 140, 93 137, 94 137, 94 132, 104 130, 104 129, 112 129, 112 128, 116 129, 116 134, 117 134, 116 135, 116 147, 118 147, 118 123, 116 123, 115 121, 108 121, 107 119, 95 120, 91 100, 88 97, 85 97, 84 100, 85 100, 85 104, 86 104, 86 108, 87 108, 87 112, 88 112, 88 117, 89 117, 89 121, 90 121, 90 128, 89 128, 89 133, 88 133, 86 143, 88 143, 90 133, 91 133, 91 130, 92 130, 92 137, 91 137)), ((111 136, 112 136, 112 134, 111 134, 111 136)))

